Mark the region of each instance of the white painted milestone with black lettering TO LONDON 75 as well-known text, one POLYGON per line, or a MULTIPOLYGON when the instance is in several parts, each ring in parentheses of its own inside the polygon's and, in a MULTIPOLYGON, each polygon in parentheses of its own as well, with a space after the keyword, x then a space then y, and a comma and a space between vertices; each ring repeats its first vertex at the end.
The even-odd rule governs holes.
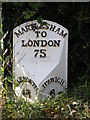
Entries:
MULTIPOLYGON (((43 23, 29 21, 13 30, 14 76, 18 83, 27 83, 24 87, 28 86, 25 91, 29 90, 31 99, 38 92, 46 98, 67 88, 68 30, 52 21, 43 23)), ((24 89, 20 84, 16 87, 16 94, 21 90, 19 96, 24 89)))

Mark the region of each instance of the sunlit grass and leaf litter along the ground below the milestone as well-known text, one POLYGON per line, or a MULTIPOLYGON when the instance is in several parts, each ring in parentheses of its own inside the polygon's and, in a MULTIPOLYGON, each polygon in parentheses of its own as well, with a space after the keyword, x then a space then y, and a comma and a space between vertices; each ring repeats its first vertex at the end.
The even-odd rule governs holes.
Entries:
POLYGON ((34 103, 8 93, 8 100, 3 97, 2 120, 89 120, 89 91, 86 84, 75 86, 54 99, 48 97, 34 103))

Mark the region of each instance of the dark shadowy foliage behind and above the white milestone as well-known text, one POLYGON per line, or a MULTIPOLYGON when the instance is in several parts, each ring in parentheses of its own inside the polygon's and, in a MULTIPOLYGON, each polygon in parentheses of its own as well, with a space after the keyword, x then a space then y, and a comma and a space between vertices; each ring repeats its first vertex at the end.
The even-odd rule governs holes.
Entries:
MULTIPOLYGON (((9 32, 4 40, 5 48, 13 28, 29 20, 50 20, 69 31, 68 83, 74 85, 90 81, 90 3, 3 3, 3 31, 9 32)), ((12 39, 11 39, 12 43, 12 39)), ((7 54, 10 54, 8 51, 7 54)), ((6 55, 7 56, 7 55, 6 55)))

